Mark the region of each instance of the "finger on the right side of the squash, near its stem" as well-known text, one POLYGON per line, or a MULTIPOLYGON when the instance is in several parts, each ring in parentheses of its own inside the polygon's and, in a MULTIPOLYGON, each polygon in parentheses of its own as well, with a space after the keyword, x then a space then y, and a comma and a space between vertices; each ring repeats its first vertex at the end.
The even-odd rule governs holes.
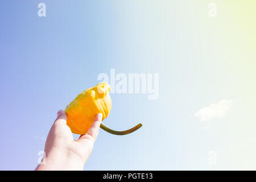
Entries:
POLYGON ((94 119, 94 122, 92 123, 92 126, 90 126, 87 133, 85 135, 81 135, 79 140, 90 139, 90 140, 93 140, 93 142, 95 142, 98 136, 98 131, 100 130, 101 121, 102 121, 102 114, 99 113, 96 115, 96 118, 94 119))

